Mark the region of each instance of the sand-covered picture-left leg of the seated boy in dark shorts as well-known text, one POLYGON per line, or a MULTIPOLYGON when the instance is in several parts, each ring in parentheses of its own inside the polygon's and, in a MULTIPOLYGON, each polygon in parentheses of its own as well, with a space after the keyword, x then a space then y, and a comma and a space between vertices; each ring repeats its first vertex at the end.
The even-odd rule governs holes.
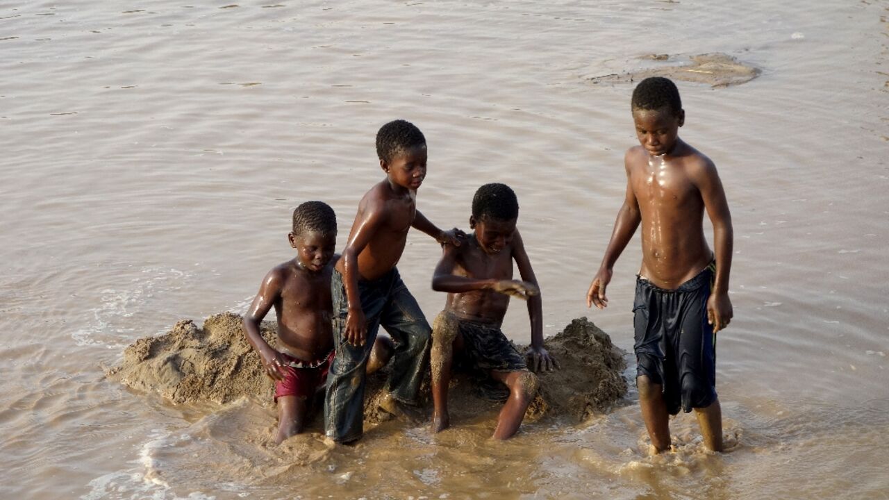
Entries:
POLYGON ((447 411, 447 391, 451 385, 453 351, 463 347, 458 322, 447 312, 441 312, 432 325, 432 351, 429 364, 432 367, 432 431, 444 431, 451 425, 447 411))

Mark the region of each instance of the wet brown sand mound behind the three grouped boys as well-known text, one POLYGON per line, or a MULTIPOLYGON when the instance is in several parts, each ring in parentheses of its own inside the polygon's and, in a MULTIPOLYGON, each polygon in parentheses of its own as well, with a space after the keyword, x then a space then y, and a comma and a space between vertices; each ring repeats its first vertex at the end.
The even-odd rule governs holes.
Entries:
MULTIPOLYGON (((228 403, 246 396, 270 405, 273 384, 244 339, 241 321, 230 312, 205 319, 203 328, 191 320, 180 321, 164 335, 141 338, 127 347, 123 362, 108 369, 107 375, 136 390, 157 391, 175 403, 228 403)), ((261 331, 274 346, 274 324, 263 323, 261 331)), ((544 346, 562 369, 540 375, 541 391, 528 408, 530 419, 546 415, 580 421, 605 411, 626 393, 627 383, 621 376, 623 352, 586 318, 574 319, 544 346)), ((371 423, 386 417, 377 405, 385 370, 368 377, 364 415, 371 423)), ((454 377, 451 407, 456 413, 500 407, 477 396, 470 385, 465 377, 454 377)))

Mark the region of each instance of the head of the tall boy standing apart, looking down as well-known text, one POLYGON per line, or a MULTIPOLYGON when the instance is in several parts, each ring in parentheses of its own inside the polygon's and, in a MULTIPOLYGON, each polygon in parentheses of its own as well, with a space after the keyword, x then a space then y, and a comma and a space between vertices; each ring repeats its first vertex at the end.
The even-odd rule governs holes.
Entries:
POLYGON ((633 90, 633 122, 639 143, 650 154, 661 156, 676 145, 685 110, 676 84, 664 77, 649 77, 633 90))

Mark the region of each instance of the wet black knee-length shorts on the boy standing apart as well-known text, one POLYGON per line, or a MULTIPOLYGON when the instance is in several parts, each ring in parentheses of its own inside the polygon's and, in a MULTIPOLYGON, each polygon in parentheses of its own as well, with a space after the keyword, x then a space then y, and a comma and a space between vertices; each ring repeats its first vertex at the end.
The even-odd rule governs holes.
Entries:
POLYGON ((670 415, 709 407, 717 399, 716 336, 707 322, 707 299, 716 265, 676 290, 636 280, 633 327, 636 375, 662 386, 670 415))

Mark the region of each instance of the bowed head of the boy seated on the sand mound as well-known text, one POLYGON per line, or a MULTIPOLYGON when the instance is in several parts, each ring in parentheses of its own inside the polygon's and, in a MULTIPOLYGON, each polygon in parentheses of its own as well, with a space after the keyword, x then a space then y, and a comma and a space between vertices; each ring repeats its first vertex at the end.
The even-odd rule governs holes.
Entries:
POLYGON ((469 227, 475 230, 478 245, 487 254, 496 254, 512 242, 518 219, 516 193, 506 184, 485 184, 472 198, 469 227))

